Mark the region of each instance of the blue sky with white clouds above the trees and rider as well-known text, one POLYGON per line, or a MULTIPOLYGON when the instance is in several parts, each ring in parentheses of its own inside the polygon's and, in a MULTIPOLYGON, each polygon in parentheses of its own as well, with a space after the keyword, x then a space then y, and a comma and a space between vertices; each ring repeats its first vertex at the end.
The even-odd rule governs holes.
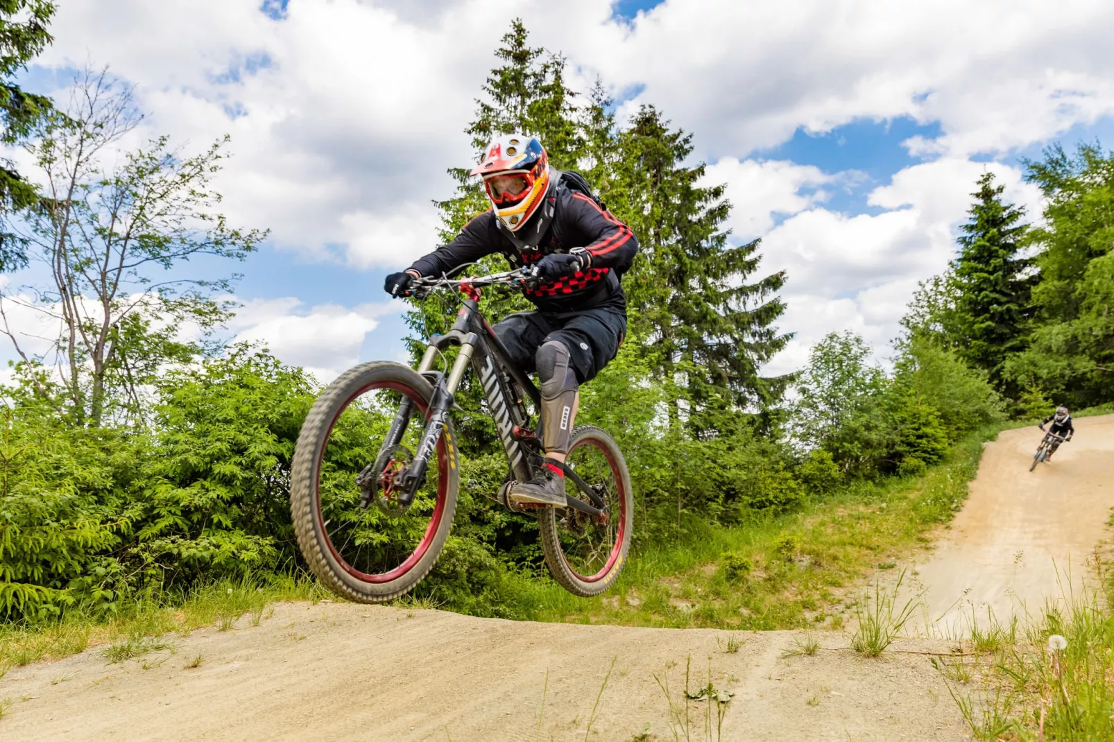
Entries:
POLYGON ((437 246, 431 202, 452 193, 448 167, 470 165, 463 129, 515 16, 567 57, 573 87, 599 77, 620 119, 653 104, 693 134, 693 164, 727 184, 733 242, 761 237, 759 271, 789 276, 779 326, 795 336, 770 373, 832 331, 885 357, 984 172, 1039 218, 1024 158, 1114 143, 1108 0, 58 6, 25 85, 62 94, 108 66, 148 114, 136 136, 196 152, 231 135, 223 211, 270 237, 243 264, 186 271, 242 273, 229 333, 322 380, 404 358, 405 305, 383 277, 437 246))

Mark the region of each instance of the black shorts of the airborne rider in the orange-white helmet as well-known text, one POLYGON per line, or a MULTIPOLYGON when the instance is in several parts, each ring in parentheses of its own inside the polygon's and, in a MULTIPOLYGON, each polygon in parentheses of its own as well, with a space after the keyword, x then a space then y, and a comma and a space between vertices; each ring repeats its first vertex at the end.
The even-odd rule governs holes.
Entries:
POLYGON ((569 362, 579 383, 590 381, 615 358, 626 335, 626 312, 608 306, 580 312, 519 312, 495 325, 510 362, 534 373, 534 354, 556 340, 568 348, 569 362))

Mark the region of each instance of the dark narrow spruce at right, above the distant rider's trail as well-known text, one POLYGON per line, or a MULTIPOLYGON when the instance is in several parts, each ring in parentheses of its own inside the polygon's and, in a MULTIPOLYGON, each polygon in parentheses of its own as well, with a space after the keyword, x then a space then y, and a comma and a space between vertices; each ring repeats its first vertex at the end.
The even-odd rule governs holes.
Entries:
POLYGON ((959 256, 952 264, 957 351, 999 388, 1006 355, 1025 344, 1033 285, 1032 261, 1020 253, 1028 226, 1022 223, 1023 209, 1003 202, 1004 191, 991 173, 978 179, 971 218, 960 227, 959 256))

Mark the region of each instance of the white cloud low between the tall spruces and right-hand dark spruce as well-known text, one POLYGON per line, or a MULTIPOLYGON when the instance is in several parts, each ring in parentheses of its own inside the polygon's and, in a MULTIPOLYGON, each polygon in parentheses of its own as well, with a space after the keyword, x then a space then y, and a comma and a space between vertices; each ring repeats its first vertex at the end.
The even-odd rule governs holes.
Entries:
POLYGON ((868 203, 888 209, 880 214, 848 216, 813 207, 772 230, 762 243, 762 270, 788 272, 781 324, 798 335, 770 371, 800 368, 808 348, 832 331, 858 332, 885 357, 917 283, 942 271, 955 255, 968 194, 987 169, 1006 186, 1006 199, 1039 211, 1039 192, 1022 180, 1019 170, 946 158, 907 167, 874 188, 868 203))

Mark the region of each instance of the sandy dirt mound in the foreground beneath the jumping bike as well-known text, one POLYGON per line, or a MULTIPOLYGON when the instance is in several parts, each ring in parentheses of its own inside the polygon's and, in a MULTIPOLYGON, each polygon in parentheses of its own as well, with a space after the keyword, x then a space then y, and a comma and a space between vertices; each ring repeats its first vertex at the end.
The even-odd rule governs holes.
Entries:
MULTIPOLYGON (((723 740, 966 739, 928 656, 862 660, 832 634, 815 656, 782 658, 799 635, 735 636, 745 643, 727 653, 715 631, 284 604, 257 627, 242 619, 176 638, 173 654, 108 664, 90 650, 12 670, 0 680, 0 697, 14 701, 0 739, 579 741, 613 657, 589 740, 629 741, 647 725, 645 739, 673 740, 654 675, 680 704, 688 657, 693 689, 711 662, 715 687, 735 693, 723 740), (197 655, 202 664, 185 668, 197 655)), ((704 736, 705 709, 691 704, 691 739, 721 739, 704 736)))

